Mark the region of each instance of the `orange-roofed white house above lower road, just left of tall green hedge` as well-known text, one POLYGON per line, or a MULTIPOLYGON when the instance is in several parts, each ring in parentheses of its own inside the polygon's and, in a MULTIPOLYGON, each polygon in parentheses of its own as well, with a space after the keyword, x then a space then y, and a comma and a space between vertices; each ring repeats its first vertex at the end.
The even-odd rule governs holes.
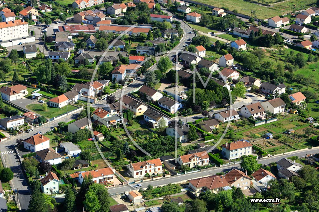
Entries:
POLYGON ((208 161, 209 156, 206 151, 180 155, 177 158, 177 163, 179 163, 180 166, 186 165, 189 168, 193 168, 195 166, 206 166, 209 164, 208 161))

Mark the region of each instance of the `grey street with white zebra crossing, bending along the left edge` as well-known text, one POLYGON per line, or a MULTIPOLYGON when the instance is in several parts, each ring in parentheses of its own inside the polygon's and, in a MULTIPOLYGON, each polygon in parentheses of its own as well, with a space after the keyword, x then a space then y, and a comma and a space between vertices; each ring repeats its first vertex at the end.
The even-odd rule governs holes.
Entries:
MULTIPOLYGON (((51 121, 48 124, 45 124, 41 127, 36 128, 36 131, 41 131, 43 133, 51 130, 53 127, 57 126, 57 123, 60 121, 68 122, 72 119, 75 119, 78 114, 71 114, 69 116, 63 117, 61 119, 51 121)), ((3 141, 0 143, 0 151, 1 151, 1 159, 4 163, 5 167, 11 168, 14 173, 14 177, 11 180, 12 189, 18 190, 18 206, 22 212, 25 212, 28 209, 29 201, 30 201, 30 190, 32 188, 28 188, 25 176, 22 172, 22 167, 19 162, 19 157, 14 153, 14 146, 16 139, 26 139, 29 137, 30 133, 22 133, 20 135, 11 137, 9 140, 3 141)))

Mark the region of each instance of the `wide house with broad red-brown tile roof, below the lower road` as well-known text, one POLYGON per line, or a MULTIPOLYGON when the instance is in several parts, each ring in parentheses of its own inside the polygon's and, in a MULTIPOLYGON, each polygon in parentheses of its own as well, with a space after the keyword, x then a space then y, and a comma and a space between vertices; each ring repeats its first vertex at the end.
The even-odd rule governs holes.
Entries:
MULTIPOLYGON (((199 194, 201 191, 217 193, 223 190, 230 190, 230 185, 223 175, 211 175, 188 181, 189 188, 199 194)), ((197 194, 197 195, 198 195, 197 194)))

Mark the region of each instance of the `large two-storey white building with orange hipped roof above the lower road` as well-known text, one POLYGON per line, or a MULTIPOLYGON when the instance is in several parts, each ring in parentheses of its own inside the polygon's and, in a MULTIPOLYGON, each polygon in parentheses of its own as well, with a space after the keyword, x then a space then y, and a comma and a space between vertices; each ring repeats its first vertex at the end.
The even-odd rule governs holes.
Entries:
POLYGON ((253 145, 248 140, 239 140, 231 143, 221 145, 222 155, 228 160, 240 158, 243 155, 249 155, 252 153, 253 145))

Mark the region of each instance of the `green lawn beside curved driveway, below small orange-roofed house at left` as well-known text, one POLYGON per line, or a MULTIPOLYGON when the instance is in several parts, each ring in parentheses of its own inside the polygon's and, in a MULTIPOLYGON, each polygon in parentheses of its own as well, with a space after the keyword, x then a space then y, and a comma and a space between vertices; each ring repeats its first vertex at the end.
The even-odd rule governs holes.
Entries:
POLYGON ((62 108, 56 108, 56 107, 48 106, 47 111, 43 111, 41 104, 28 105, 27 107, 28 107, 29 110, 32 110, 35 113, 38 113, 41 116, 44 116, 44 117, 46 117, 48 119, 51 119, 53 117, 56 117, 56 116, 61 115, 63 113, 66 113, 67 109, 68 109, 68 111, 71 111, 71 110, 77 108, 77 107, 75 107, 73 105, 64 106, 62 108))

